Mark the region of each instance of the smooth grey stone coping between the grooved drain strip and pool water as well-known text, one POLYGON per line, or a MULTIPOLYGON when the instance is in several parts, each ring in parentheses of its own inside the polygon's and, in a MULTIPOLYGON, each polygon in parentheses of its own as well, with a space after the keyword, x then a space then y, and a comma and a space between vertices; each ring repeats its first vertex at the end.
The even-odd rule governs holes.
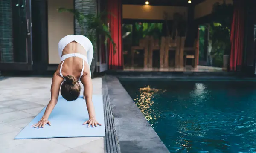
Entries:
POLYGON ((102 78, 108 87, 117 139, 122 153, 169 153, 119 79, 102 78))

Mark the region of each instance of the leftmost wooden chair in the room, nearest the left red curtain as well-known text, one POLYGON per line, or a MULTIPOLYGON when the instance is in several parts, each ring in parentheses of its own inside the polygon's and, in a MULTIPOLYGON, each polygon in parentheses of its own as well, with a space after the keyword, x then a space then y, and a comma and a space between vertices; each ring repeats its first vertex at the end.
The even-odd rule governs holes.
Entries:
POLYGON ((134 54, 136 50, 144 50, 144 67, 148 67, 148 39, 149 37, 146 36, 145 38, 139 41, 139 46, 131 46, 131 66, 134 67, 134 54))

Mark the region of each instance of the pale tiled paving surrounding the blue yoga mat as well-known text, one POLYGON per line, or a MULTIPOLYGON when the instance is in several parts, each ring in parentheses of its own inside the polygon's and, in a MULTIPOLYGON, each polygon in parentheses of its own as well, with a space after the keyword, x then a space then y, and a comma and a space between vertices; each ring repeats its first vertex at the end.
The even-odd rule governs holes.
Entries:
MULTIPOLYGON (((48 104, 52 78, 0 80, 0 153, 104 153, 104 139, 13 138, 48 104)), ((93 94, 102 94, 102 79, 93 79, 93 94)))

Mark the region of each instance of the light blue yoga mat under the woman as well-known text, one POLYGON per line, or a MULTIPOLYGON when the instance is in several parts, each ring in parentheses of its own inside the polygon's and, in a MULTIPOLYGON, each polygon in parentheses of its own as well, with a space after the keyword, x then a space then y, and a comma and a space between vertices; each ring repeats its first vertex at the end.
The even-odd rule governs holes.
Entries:
POLYGON ((102 137, 105 136, 104 110, 102 95, 93 95, 96 119, 102 124, 97 127, 82 125, 89 119, 85 100, 79 97, 76 101, 66 101, 59 97, 58 103, 49 116, 51 126, 44 128, 31 127, 44 115, 44 108, 14 139, 67 138, 67 137, 102 137))

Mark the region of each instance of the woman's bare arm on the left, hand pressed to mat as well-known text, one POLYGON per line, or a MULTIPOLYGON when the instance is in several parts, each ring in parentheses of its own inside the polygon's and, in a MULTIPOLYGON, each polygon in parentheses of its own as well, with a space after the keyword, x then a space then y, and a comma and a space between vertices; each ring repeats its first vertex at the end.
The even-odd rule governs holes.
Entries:
POLYGON ((51 100, 49 104, 46 107, 46 110, 44 112, 43 117, 41 118, 40 121, 38 121, 37 124, 32 125, 32 127, 44 127, 45 124, 49 124, 50 122, 48 121, 49 115, 52 113, 53 108, 58 102, 58 95, 60 92, 60 87, 61 83, 63 81, 63 78, 58 76, 56 73, 54 73, 52 77, 52 86, 51 86, 51 100))

